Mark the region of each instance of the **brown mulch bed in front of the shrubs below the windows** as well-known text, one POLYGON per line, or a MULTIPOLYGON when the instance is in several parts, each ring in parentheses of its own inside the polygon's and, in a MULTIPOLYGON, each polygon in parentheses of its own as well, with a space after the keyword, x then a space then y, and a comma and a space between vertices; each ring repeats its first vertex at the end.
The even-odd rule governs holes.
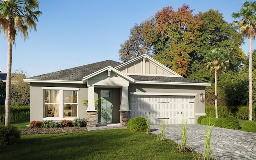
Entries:
POLYGON ((66 132, 87 131, 86 127, 61 127, 61 128, 25 128, 20 130, 21 134, 55 134, 66 132))

